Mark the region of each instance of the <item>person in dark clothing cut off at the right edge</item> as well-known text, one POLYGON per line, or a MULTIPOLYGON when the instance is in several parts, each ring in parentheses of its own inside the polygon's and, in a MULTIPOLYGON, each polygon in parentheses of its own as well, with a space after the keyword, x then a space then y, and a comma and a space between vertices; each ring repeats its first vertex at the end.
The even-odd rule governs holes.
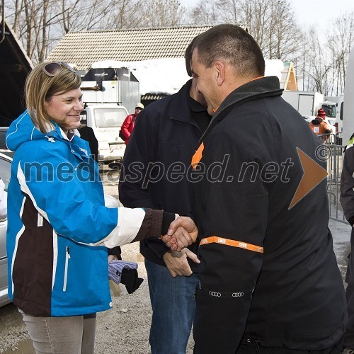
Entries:
POLYGON ((352 227, 350 236, 350 254, 346 273, 346 299, 348 324, 343 343, 343 354, 354 354, 354 134, 346 146, 341 176, 341 205, 352 227))

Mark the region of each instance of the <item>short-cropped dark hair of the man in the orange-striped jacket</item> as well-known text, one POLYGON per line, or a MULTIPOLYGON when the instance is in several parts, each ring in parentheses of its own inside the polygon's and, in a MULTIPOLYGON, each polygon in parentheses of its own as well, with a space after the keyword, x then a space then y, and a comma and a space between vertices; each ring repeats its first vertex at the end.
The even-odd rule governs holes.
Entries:
POLYGON ((215 25, 195 38, 198 62, 209 68, 219 59, 234 67, 239 76, 263 76, 264 57, 256 40, 238 25, 215 25))

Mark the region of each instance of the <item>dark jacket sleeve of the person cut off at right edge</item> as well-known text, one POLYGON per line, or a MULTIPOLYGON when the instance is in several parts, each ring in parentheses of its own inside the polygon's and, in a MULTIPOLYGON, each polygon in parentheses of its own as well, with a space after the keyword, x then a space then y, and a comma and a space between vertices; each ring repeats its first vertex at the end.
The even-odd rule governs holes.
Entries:
POLYGON ((341 176, 341 205, 344 215, 349 224, 353 227, 354 224, 354 147, 351 141, 347 146, 344 154, 343 169, 341 176))

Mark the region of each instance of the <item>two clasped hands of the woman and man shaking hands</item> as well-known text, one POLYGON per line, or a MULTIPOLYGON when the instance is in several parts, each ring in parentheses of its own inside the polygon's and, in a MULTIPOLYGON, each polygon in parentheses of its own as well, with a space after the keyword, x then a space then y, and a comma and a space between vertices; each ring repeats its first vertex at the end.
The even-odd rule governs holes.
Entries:
POLYGON ((164 241, 171 251, 181 252, 185 247, 195 242, 198 236, 198 229, 190 217, 178 217, 171 222, 169 231, 166 235, 161 235, 160 239, 164 241))

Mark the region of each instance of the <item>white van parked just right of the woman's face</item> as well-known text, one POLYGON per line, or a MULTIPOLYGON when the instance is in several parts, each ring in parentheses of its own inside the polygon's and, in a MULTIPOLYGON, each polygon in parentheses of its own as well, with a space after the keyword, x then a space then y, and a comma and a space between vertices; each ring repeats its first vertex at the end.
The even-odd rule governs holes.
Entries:
POLYGON ((122 160, 125 144, 118 135, 127 115, 117 103, 89 103, 81 112, 81 124, 91 127, 98 140, 99 162, 122 160))

